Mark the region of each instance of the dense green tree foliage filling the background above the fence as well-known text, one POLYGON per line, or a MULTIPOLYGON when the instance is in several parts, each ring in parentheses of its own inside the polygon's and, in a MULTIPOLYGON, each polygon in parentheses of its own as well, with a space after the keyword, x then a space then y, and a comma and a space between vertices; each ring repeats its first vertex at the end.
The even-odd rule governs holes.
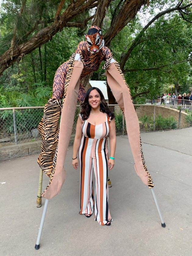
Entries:
MULTIPOLYGON (((103 33, 110 27, 119 2, 119 0, 111 1, 103 20, 103 33)), ((66 9, 69 3, 71 1, 65 1, 62 10, 66 9)), ((182 5, 186 4, 188 1, 184 0, 182 5)), ((118 11, 122 5, 123 1, 117 8, 118 11)), ((141 35, 124 66, 125 79, 130 86, 132 96, 146 92, 133 98, 135 104, 145 103, 146 98, 151 100, 155 97, 157 99, 158 95, 167 92, 167 90, 170 92, 169 85, 178 84, 177 91, 181 94, 188 93, 189 87, 192 87, 192 62, 183 62, 183 60, 191 58, 192 24, 183 20, 180 13, 175 11, 160 17, 145 32, 141 33, 143 27, 157 12, 176 5, 174 0, 151 0, 150 5, 143 6, 134 20, 131 20, 112 39, 109 45, 114 58, 120 62, 123 53, 141 35), (142 70, 158 67, 161 68, 142 70), (137 69, 137 71, 130 71, 133 69, 137 69)), ((0 55, 9 49, 12 29, 16 18, 18 18, 17 13, 20 6, 21 2, 16 0, 2 2, 0 9, 0 55)), ((18 43, 29 39, 26 38, 26 33, 34 26, 34 21, 41 19, 34 33, 47 26, 50 20, 54 18, 57 8, 58 2, 56 0, 48 0, 46 3, 44 1, 27 1, 22 18, 18 18, 16 37, 18 43)), ((187 18, 191 20, 191 7, 186 12, 188 13, 187 18)), ((92 14, 86 11, 71 21, 83 22, 87 16, 92 14)), ((31 54, 24 56, 19 65, 15 63, 6 69, 0 77, 0 88, 2 87, 0 106, 44 105, 52 96, 52 84, 57 68, 69 59, 79 42, 84 40, 83 33, 87 31, 91 22, 90 20, 90 23, 83 28, 64 27, 51 41, 46 43, 46 47, 45 44, 41 46, 42 73, 38 48, 31 54)), ((29 37, 32 35, 33 33, 29 37)), ((98 71, 94 72, 91 77, 92 80, 106 79, 105 76, 101 76, 104 73, 101 68, 102 65, 103 63, 101 63, 98 71)))

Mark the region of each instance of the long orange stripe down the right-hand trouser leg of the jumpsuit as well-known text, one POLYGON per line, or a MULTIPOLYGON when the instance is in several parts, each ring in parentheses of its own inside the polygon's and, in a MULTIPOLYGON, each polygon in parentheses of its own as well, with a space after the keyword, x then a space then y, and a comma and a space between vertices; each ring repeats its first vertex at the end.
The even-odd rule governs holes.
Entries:
POLYGON ((99 183, 100 183, 100 205, 99 205, 99 217, 101 221, 101 225, 103 223, 103 159, 101 154, 101 147, 102 147, 103 139, 99 141, 98 145, 98 158, 99 158, 99 183))

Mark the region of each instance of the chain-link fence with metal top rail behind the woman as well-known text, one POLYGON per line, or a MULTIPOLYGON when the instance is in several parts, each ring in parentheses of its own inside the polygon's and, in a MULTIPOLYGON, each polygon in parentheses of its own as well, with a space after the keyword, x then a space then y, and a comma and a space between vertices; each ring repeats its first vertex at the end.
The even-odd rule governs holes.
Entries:
MULTIPOLYGON (((115 112, 116 134, 126 134, 126 120, 118 105, 108 105, 115 112)), ((192 126, 191 106, 134 105, 140 131, 176 129, 192 126)), ((0 108, 0 146, 41 140, 37 126, 44 107, 0 108)), ((75 136, 80 106, 76 106, 72 137, 75 136)))

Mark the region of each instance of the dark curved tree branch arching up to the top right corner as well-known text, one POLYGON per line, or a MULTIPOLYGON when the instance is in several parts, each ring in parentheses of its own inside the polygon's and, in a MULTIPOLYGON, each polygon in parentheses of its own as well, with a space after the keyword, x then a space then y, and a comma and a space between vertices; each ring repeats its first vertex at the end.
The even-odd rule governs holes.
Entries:
POLYGON ((133 43, 131 44, 130 48, 128 49, 128 51, 126 52, 126 54, 122 54, 121 58, 120 58, 120 68, 121 70, 124 69, 125 63, 127 61, 127 59, 130 56, 130 53, 133 51, 133 49, 136 47, 136 45, 138 44, 138 41, 141 39, 141 37, 143 36, 144 32, 148 29, 148 27, 158 18, 162 17, 163 15, 173 12, 173 11, 179 11, 180 9, 186 9, 187 7, 190 7, 192 5, 192 3, 185 5, 185 6, 176 6, 174 8, 171 9, 166 9, 163 12, 158 13, 153 19, 150 20, 150 22, 140 31, 140 33, 137 35, 137 37, 134 39, 133 43))

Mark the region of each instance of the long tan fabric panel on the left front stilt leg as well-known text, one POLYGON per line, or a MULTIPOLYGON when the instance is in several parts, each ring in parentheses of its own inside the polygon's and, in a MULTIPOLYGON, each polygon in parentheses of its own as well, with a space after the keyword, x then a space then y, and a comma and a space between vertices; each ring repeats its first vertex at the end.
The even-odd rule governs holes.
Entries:
POLYGON ((83 62, 75 61, 73 73, 70 78, 66 98, 63 103, 61 122, 59 127, 59 142, 55 172, 52 182, 42 194, 42 197, 51 199, 59 194, 62 185, 66 179, 66 171, 64 170, 64 162, 67 154, 67 148, 73 128, 73 120, 75 116, 76 102, 79 93, 80 75, 84 68, 83 62))

